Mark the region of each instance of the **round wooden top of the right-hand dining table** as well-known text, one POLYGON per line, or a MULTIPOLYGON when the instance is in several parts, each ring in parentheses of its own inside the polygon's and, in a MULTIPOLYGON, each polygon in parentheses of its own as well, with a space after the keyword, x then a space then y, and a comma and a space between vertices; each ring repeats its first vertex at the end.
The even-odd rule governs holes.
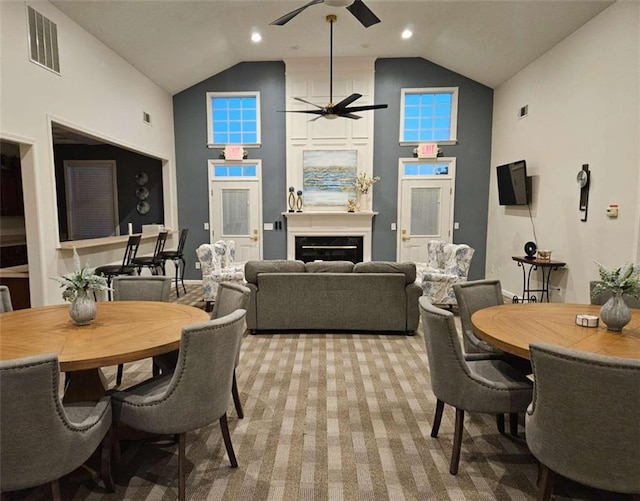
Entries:
POLYGON ((595 315, 600 306, 568 303, 504 304, 476 311, 471 323, 487 343, 529 358, 530 343, 548 343, 574 350, 640 359, 640 310, 631 310, 631 322, 622 332, 576 325, 578 314, 595 315))

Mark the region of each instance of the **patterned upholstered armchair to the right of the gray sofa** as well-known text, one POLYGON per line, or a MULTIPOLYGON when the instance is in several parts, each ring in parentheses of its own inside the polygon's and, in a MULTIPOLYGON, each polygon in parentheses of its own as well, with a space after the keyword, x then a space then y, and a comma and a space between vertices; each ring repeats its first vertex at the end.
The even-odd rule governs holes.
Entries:
POLYGON ((432 304, 457 304, 452 285, 467 281, 475 250, 466 244, 440 240, 428 243, 427 263, 416 263, 418 280, 422 277, 422 295, 432 304))

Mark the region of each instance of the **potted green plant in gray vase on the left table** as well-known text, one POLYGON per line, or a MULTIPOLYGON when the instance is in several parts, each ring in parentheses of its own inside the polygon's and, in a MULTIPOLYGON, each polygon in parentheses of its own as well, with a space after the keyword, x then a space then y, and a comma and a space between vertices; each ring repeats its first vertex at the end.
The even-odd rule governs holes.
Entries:
POLYGON ((80 257, 73 248, 73 269, 71 273, 54 277, 61 288, 62 299, 70 301, 69 315, 78 325, 87 325, 96 318, 96 302, 93 292, 108 290, 107 279, 96 275, 88 265, 80 264, 80 257), (89 294, 91 293, 91 294, 89 294))

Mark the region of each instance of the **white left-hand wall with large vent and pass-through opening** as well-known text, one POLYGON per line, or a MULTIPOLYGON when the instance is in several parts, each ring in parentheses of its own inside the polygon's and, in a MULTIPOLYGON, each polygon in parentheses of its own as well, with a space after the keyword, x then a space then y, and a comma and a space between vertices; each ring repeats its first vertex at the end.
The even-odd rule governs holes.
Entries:
MULTIPOLYGON (((0 138, 21 143, 36 306, 61 302, 49 277, 72 269, 70 251, 57 248, 51 120, 161 159, 166 225, 177 227, 177 210, 171 96, 48 2, 30 5, 57 24, 61 75, 29 61, 25 3, 0 2, 0 138), (152 126, 142 122, 143 110, 152 126)), ((98 266, 119 261, 122 252, 123 246, 112 246, 80 255, 83 263, 98 266)))

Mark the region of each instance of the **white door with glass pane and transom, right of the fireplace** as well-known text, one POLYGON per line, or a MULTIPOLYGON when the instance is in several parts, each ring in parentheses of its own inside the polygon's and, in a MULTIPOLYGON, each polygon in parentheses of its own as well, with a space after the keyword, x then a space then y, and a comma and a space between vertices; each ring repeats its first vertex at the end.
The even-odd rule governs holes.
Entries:
MULTIPOLYGON (((448 162, 446 174, 404 175, 400 165, 398 201, 398 260, 424 263, 429 240, 452 240, 454 165, 453 159, 438 159, 429 166, 448 162)), ((411 163, 415 162, 411 159, 411 163)), ((423 163, 424 164, 424 163, 423 163)), ((441 167, 440 167, 441 168, 441 167)), ((427 170, 431 172, 433 169, 427 170)), ((436 169, 437 171, 438 169, 436 169)))

